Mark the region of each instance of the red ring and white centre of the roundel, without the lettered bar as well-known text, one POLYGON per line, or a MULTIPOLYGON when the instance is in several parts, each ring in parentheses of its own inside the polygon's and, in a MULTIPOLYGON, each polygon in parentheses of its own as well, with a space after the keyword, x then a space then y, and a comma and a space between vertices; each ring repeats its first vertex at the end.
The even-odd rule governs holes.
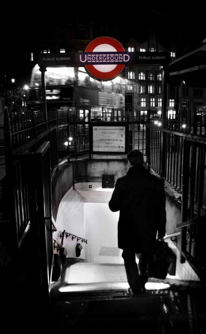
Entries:
MULTIPOLYGON (((91 41, 85 52, 124 52, 123 46, 112 37, 98 37, 91 41)), ((124 64, 85 65, 89 74, 97 80, 111 80, 115 78, 124 68, 124 64)))

